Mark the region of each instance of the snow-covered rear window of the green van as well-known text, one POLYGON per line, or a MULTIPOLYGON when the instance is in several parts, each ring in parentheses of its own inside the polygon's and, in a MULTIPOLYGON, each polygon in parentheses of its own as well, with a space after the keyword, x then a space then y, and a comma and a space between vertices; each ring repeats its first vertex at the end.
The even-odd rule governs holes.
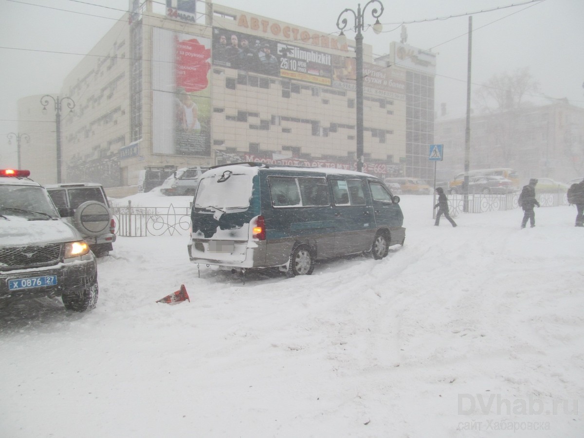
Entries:
MULTIPOLYGON (((208 172, 207 172, 208 173, 208 172)), ((204 175, 199 180, 199 189, 194 200, 195 208, 225 211, 227 208, 248 208, 252 196, 253 175, 231 173, 224 178, 221 172, 204 175)))

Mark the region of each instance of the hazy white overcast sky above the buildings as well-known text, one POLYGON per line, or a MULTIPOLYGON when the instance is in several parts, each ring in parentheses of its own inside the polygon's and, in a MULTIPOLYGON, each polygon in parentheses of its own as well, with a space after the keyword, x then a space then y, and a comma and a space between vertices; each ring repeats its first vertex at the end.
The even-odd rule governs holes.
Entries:
MULTIPOLYGON (((164 0, 160 0, 161 10, 164 0)), ((468 15, 472 15, 472 84, 529 67, 540 91, 584 107, 584 1, 381 0, 384 32, 367 30, 374 54, 389 53, 401 23, 408 44, 437 55, 436 107, 464 116, 468 15), (516 5, 512 7, 506 7, 516 5), (499 8, 496 11, 491 11, 499 8), (484 12, 481 12, 484 11, 484 12), (465 15, 466 14, 466 15, 465 15), (453 18, 449 18, 453 17, 453 18)), ((222 0, 217 4, 320 30, 338 32, 336 20, 359 0, 222 0)), ((366 1, 361 0, 361 5, 366 1)), ((372 25, 370 5, 365 24, 372 25)), ((6 134, 18 131, 16 101, 56 94, 62 79, 128 8, 128 0, 0 0, 0 163, 12 161, 6 134)), ((347 37, 352 38, 352 32, 347 37)), ((535 99, 536 96, 533 96, 535 99)), ((529 100, 529 99, 528 99, 529 100)), ((39 104, 40 105, 40 104, 39 104)))

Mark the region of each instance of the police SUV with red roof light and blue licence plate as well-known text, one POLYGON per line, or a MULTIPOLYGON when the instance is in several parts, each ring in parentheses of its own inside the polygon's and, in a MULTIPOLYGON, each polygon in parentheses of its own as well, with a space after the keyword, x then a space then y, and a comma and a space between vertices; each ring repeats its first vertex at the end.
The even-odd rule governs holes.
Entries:
POLYGON ((68 310, 89 310, 99 293, 95 256, 28 176, 0 170, 0 306, 12 298, 61 297, 68 310))

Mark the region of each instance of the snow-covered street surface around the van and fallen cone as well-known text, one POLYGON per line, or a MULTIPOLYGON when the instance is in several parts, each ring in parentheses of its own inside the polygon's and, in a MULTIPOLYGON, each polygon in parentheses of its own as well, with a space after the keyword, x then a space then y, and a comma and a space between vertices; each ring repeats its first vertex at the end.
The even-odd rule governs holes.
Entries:
POLYGON ((118 237, 95 310, 0 310, 0 436, 584 436, 576 209, 453 228, 433 226, 432 202, 402 196, 405 245, 387 258, 293 279, 199 276, 186 234, 118 237), (181 284, 190 302, 156 303, 181 284))

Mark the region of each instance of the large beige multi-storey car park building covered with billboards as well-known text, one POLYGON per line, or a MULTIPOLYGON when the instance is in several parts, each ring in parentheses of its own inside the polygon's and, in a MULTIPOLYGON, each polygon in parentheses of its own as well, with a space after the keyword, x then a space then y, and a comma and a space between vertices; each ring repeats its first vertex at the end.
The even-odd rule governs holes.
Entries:
MULTIPOLYGON (((210 2, 164 15, 151 0, 132 3, 51 95, 74 108, 53 98, 39 116, 54 128, 60 113, 62 182, 135 186, 148 165, 356 168, 353 41, 210 2)), ((392 43, 374 60, 364 44, 363 61, 363 170, 432 178, 435 56, 392 43)), ((39 98, 22 99, 20 112, 41 110, 39 98)), ((23 163, 55 182, 53 155, 33 151, 23 163)))

